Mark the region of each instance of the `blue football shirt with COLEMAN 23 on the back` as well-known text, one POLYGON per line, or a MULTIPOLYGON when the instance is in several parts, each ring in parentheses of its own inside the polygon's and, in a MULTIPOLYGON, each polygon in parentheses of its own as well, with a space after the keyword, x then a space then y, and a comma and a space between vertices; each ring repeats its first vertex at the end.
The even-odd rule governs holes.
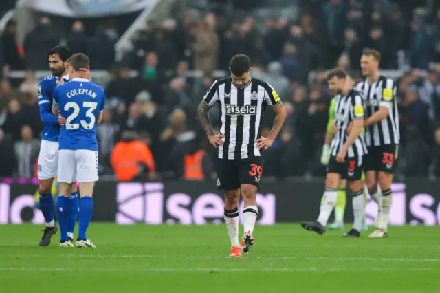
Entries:
POLYGON ((61 127, 58 149, 98 151, 96 119, 105 106, 102 87, 83 78, 73 78, 54 90, 53 107, 66 118, 61 127))

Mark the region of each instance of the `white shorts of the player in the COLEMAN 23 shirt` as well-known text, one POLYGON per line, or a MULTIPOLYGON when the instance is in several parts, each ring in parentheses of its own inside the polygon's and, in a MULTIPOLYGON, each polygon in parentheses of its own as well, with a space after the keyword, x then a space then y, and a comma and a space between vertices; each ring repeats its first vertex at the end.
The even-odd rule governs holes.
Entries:
POLYGON ((58 151, 58 182, 97 182, 98 152, 87 149, 58 151))

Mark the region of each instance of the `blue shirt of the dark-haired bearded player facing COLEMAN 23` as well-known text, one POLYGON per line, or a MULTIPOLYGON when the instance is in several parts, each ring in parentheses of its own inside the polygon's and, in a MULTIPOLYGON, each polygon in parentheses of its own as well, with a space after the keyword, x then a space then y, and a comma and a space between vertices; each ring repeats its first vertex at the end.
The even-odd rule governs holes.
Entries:
MULTIPOLYGON (((69 80, 65 77, 64 82, 69 80)), ((41 111, 47 111, 47 115, 52 115, 53 94, 56 88, 56 76, 47 76, 43 78, 39 83, 39 105, 41 111)), ((43 114, 41 114, 41 120, 44 122, 43 135, 41 139, 49 140, 51 142, 58 142, 58 136, 60 135, 60 124, 58 119, 54 119, 56 123, 45 122, 43 114)))

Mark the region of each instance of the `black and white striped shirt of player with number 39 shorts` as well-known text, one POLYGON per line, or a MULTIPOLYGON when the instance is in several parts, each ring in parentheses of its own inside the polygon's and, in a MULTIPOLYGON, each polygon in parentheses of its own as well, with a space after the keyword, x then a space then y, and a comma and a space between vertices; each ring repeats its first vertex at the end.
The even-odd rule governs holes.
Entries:
POLYGON ((269 83, 251 78, 248 85, 238 88, 230 77, 215 80, 203 102, 210 107, 219 103, 220 133, 225 135, 223 146, 219 146, 219 158, 235 160, 261 156, 254 142, 261 134, 265 108, 281 102, 269 83))

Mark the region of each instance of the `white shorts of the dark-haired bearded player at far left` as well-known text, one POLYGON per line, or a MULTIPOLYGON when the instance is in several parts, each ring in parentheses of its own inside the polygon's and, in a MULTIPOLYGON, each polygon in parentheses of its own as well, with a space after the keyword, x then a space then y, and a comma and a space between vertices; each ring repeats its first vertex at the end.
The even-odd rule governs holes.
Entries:
POLYGON ((56 177, 58 171, 58 142, 41 140, 39 154, 39 179, 56 177))

